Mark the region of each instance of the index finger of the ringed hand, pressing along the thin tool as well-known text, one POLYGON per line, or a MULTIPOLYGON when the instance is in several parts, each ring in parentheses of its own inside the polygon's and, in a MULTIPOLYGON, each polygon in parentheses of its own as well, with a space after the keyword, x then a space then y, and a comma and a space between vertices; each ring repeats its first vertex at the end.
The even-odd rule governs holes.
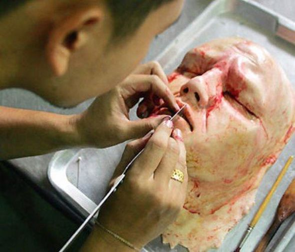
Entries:
POLYGON ((154 131, 145 146, 144 151, 134 162, 132 173, 150 177, 161 162, 172 133, 173 123, 169 120, 162 122, 154 131))

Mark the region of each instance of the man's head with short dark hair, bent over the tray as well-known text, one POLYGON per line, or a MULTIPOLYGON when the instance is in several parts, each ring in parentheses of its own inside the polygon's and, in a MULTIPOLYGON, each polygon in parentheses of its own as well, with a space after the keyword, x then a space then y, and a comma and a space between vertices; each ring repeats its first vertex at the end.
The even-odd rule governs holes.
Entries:
POLYGON ((0 88, 23 87, 60 106, 100 95, 122 81, 143 59, 154 36, 177 19, 183 4, 13 2, 0 16, 0 88))

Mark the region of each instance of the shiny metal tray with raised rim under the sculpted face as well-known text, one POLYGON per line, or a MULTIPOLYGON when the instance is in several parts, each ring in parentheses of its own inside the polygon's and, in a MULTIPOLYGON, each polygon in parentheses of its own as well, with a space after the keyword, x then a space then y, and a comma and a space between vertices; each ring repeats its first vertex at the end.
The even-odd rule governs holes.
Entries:
MULTIPOLYGON (((171 72, 190 48, 206 41, 227 36, 241 36, 263 45, 281 64, 295 88, 295 23, 276 14, 252 0, 215 0, 205 11, 179 34, 157 57, 166 73, 171 72)), ((135 118, 134 111, 131 116, 135 118)), ((86 216, 102 198, 113 169, 120 159, 124 144, 108 149, 61 151, 54 155, 48 168, 48 178, 61 196, 86 216), (77 183, 77 160, 81 157, 77 183)), ((279 159, 264 176, 256 196, 256 205, 250 213, 226 236, 218 252, 233 251, 247 224, 270 189, 288 156, 295 154, 295 137, 287 144, 279 159)), ((261 220, 252 232, 242 252, 251 252, 270 225, 278 202, 295 176, 291 166, 275 192, 261 220)), ((295 251, 295 216, 290 217, 279 229, 267 251, 295 251)), ((148 244, 148 252, 185 252, 178 246, 170 250, 160 238, 148 244)))

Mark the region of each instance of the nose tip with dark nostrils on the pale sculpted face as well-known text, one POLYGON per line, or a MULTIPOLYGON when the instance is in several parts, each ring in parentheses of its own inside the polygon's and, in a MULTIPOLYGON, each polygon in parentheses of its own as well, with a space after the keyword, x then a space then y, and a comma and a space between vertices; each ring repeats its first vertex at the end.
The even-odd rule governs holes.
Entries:
POLYGON ((180 96, 186 96, 186 98, 194 105, 205 108, 208 105, 208 92, 206 90, 204 80, 201 76, 197 76, 189 80, 180 89, 180 96))

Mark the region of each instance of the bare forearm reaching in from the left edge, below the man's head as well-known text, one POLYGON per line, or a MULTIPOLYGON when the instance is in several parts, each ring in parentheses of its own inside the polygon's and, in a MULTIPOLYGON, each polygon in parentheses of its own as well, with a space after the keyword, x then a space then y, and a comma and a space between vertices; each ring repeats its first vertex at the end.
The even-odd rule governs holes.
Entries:
POLYGON ((72 116, 0 107, 0 160, 79 145, 72 116))

